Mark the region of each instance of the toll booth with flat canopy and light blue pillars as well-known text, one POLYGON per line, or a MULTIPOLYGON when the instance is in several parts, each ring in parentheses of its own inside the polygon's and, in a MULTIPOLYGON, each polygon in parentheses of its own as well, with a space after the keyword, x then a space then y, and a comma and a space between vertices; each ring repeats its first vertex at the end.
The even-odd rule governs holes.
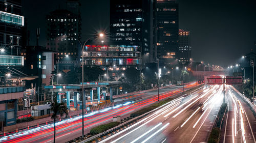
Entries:
MULTIPOLYGON (((93 93, 97 92, 97 103, 100 100, 110 99, 113 102, 113 88, 118 87, 121 84, 120 81, 109 81, 109 82, 84 82, 83 83, 83 102, 86 103, 86 92, 90 91, 90 102, 93 102, 93 93), (109 93, 108 93, 109 91, 109 93), (109 96, 109 97, 107 97, 109 96)), ((60 85, 48 85, 45 89, 50 92, 57 92, 57 102, 67 102, 67 107, 70 108, 70 95, 73 95, 74 108, 78 109, 79 96, 82 94, 82 83, 80 84, 60 84, 60 85), (66 95, 66 98, 63 98, 66 95), (61 98, 62 96, 62 98, 61 98)), ((82 108, 81 104, 80 108, 82 108)), ((84 106, 86 108, 86 106, 84 106)))

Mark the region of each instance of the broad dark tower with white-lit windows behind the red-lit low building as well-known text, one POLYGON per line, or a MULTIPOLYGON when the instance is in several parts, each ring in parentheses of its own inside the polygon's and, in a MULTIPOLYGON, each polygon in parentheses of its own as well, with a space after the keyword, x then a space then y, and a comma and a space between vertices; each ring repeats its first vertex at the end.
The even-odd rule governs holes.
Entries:
POLYGON ((111 45, 136 45, 143 62, 153 56, 153 1, 110 1, 111 45))

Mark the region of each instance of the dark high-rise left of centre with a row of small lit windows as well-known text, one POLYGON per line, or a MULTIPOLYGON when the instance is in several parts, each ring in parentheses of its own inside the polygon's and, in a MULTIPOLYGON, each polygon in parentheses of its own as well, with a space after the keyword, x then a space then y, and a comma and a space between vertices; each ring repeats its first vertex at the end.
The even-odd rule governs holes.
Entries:
POLYGON ((47 49, 57 51, 59 57, 78 55, 81 39, 79 1, 67 1, 67 9, 57 9, 46 16, 47 49), (72 38, 73 37, 73 38, 72 38))

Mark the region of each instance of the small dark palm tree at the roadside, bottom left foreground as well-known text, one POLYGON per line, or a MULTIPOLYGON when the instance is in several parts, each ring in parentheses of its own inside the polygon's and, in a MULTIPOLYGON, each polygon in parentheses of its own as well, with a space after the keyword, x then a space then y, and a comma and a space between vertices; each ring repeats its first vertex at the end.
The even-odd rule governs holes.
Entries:
POLYGON ((66 116, 67 116, 68 115, 68 109, 67 109, 67 106, 63 102, 57 103, 57 100, 55 99, 54 102, 51 104, 51 111, 53 111, 51 119, 54 120, 54 139, 53 139, 53 142, 55 143, 55 134, 56 134, 55 123, 56 123, 56 119, 61 118, 63 113, 66 113, 66 116), (58 115, 60 115, 60 116, 58 116, 58 115))

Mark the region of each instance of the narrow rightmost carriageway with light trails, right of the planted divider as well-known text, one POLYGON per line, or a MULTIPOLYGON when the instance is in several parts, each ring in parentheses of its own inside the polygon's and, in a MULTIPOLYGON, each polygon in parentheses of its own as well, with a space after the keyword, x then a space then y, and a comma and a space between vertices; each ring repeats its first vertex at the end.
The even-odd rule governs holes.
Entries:
POLYGON ((231 85, 226 87, 228 113, 221 142, 256 142, 256 119, 250 106, 232 89, 231 85))

